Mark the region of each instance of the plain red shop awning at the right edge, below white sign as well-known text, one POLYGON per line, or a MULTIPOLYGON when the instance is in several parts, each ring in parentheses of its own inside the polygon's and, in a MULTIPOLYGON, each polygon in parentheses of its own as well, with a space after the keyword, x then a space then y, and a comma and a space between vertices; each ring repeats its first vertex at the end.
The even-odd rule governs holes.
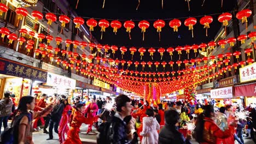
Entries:
POLYGON ((246 97, 253 97, 256 95, 256 83, 242 85, 242 86, 235 86, 235 96, 246 96, 246 97))

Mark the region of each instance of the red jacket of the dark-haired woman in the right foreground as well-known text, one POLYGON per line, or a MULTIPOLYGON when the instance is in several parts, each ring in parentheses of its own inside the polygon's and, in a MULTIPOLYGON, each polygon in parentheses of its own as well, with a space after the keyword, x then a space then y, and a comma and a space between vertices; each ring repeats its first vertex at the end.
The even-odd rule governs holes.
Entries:
POLYGON ((203 129, 203 141, 201 144, 216 144, 219 139, 226 139, 234 134, 234 127, 229 126, 229 129, 222 131, 213 119, 205 117, 205 124, 203 129))

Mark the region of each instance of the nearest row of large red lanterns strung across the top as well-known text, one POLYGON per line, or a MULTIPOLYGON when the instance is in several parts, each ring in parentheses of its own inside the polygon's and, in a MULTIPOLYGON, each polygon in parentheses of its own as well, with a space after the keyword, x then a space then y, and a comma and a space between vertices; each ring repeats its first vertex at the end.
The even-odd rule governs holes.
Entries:
MULTIPOLYGON (((5 5, 6 6, 6 5, 5 5)), ((0 15, 2 13, 5 13, 7 10, 7 6, 5 7, 4 4, 0 5, 0 15)), ((25 8, 16 8, 16 13, 18 14, 18 19, 21 20, 23 17, 28 15, 28 12, 25 8)), ((236 14, 236 18, 239 20, 242 20, 242 23, 246 22, 246 27, 247 27, 247 18, 249 16, 251 16, 252 11, 249 9, 244 9, 241 11, 238 11, 238 13, 236 14)), ((32 17, 34 17, 34 20, 41 20, 43 19, 43 14, 40 13, 40 11, 32 11, 31 13, 32 17)), ((55 22, 57 20, 57 16, 53 13, 46 13, 45 18, 48 20, 47 24, 51 25, 52 22, 55 22)), ((230 13, 223 13, 221 15, 219 15, 218 17, 218 21, 223 23, 223 26, 228 26, 228 22, 231 20, 232 15, 230 13)), ((70 18, 66 15, 60 15, 59 16, 59 21, 61 22, 61 26, 62 28, 65 27, 66 23, 69 23, 70 18)), ((80 25, 84 24, 84 19, 82 17, 74 17, 74 23, 75 23, 75 27, 79 28, 80 25)), ((207 34, 207 29, 210 28, 210 24, 212 23, 213 18, 212 16, 203 16, 200 19, 200 24, 203 25, 203 28, 206 28, 206 36, 207 34)), ((192 37, 194 37, 194 33, 193 33, 193 26, 196 25, 197 20, 195 19, 195 17, 189 17, 188 19, 184 20, 184 25, 189 27, 189 30, 191 30, 192 33, 192 37)), ((94 27, 96 27, 97 25, 101 27, 101 39, 102 39, 102 35, 103 32, 106 31, 106 28, 108 28, 109 26, 113 28, 113 32, 117 33, 117 30, 121 28, 122 23, 118 20, 113 20, 111 22, 109 22, 108 20, 100 20, 100 21, 96 21, 95 19, 89 19, 86 20, 86 25, 88 27, 90 27, 90 32, 94 31, 94 27)), ((178 19, 173 19, 169 22, 169 26, 171 28, 173 28, 174 32, 178 32, 178 27, 180 27, 182 25, 182 22, 178 19)), ((146 29, 150 26, 150 23, 147 20, 142 20, 138 23, 138 27, 142 29, 142 33, 143 33, 143 38, 142 40, 144 40, 144 33, 146 32, 146 29)), ((156 32, 159 33, 159 40, 160 40, 160 32, 162 31, 162 28, 165 27, 165 21, 164 20, 156 20, 153 23, 153 26, 156 28, 156 32)), ((125 21, 124 22, 124 27, 126 28, 126 32, 129 33, 129 38, 131 39, 131 29, 133 29, 135 27, 135 23, 131 20, 129 21, 125 21)))

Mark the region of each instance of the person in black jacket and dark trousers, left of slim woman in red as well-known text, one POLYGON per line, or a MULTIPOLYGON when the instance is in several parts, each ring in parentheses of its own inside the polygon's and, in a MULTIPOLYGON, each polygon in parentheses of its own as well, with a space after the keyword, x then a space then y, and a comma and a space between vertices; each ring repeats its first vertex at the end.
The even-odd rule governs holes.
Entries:
POLYGON ((58 127, 60 123, 60 119, 62 116, 62 111, 64 109, 64 104, 61 103, 61 97, 56 98, 56 106, 54 107, 53 111, 51 112, 51 120, 49 124, 49 138, 46 140, 53 140, 53 128, 55 133, 58 134, 58 127))

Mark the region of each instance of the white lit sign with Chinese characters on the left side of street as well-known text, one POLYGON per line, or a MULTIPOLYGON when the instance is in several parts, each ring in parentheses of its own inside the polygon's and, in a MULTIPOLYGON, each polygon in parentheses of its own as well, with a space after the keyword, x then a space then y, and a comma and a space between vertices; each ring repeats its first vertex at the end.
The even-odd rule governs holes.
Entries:
POLYGON ((47 83, 51 86, 75 89, 75 80, 53 73, 48 73, 47 83))

